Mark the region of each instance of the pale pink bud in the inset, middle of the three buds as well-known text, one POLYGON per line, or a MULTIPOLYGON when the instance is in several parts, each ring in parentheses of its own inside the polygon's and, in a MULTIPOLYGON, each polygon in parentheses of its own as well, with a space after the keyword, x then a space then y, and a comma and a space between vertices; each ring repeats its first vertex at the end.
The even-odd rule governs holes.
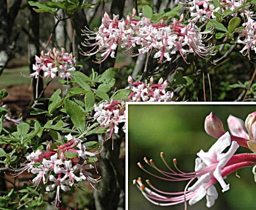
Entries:
POLYGON ((232 115, 228 116, 228 129, 230 133, 236 137, 249 139, 244 121, 232 115))

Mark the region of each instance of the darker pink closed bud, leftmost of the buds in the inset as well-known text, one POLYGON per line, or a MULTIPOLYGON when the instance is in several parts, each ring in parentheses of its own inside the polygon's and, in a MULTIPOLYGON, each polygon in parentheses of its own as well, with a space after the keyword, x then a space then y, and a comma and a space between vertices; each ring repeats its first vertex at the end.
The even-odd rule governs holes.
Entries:
POLYGON ((226 131, 223 128, 223 122, 221 119, 213 115, 213 112, 209 116, 205 117, 204 129, 207 134, 215 138, 220 138, 226 131))

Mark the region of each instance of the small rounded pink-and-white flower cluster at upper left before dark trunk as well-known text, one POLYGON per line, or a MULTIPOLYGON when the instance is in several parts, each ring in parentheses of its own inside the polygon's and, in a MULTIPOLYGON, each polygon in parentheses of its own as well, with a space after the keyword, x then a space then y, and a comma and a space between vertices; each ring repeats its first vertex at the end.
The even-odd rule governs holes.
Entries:
POLYGON ((57 75, 61 78, 71 78, 70 72, 75 71, 75 57, 72 53, 65 53, 62 48, 62 53, 59 53, 56 48, 53 51, 49 50, 48 53, 41 52, 41 56, 35 56, 35 64, 33 64, 34 73, 30 74, 31 77, 37 78, 43 75, 47 79, 51 77, 54 79, 57 75), (43 71, 43 74, 41 74, 43 71))

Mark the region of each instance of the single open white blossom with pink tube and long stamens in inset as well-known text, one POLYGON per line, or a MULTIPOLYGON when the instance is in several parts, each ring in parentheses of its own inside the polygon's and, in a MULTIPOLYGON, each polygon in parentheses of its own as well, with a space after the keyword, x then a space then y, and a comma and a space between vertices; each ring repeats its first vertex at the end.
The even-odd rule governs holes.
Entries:
POLYGON ((203 152, 203 150, 198 152, 199 158, 196 158, 195 171, 190 173, 181 171, 177 167, 176 159, 173 161, 176 170, 169 167, 163 158, 163 153, 161 153, 161 158, 169 171, 163 171, 158 168, 152 159, 148 161, 147 158, 144 158, 144 161, 147 165, 152 167, 152 169, 156 170, 158 174, 148 171, 141 163, 138 163, 143 171, 146 171, 146 173, 158 179, 169 180, 171 182, 187 180, 188 184, 186 184, 183 192, 164 192, 151 184, 149 180, 146 180, 148 184, 148 187, 146 187, 140 178, 134 180, 133 183, 139 188, 140 192, 142 192, 143 196, 148 201, 156 205, 169 206, 185 203, 186 206, 186 201, 188 201, 190 205, 194 205, 194 203, 206 197, 206 205, 207 207, 211 207, 218 198, 218 192, 214 184, 219 182, 223 188, 222 191, 225 192, 230 187, 229 184, 226 184, 224 181, 224 177, 242 167, 251 166, 256 163, 255 154, 234 155, 238 146, 237 142, 231 141, 229 133, 224 133, 208 152, 203 152), (228 150, 224 153, 226 148, 228 148, 228 150), (196 182, 194 182, 194 180, 196 180, 196 182), (192 184, 193 182, 194 184, 192 184))

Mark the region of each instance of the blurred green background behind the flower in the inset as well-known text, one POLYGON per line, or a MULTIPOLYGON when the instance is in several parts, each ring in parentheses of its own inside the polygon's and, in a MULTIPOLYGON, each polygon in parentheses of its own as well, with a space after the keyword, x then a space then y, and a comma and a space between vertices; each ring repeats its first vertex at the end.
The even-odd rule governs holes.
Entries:
MULTIPOLYGON (((140 161, 145 167, 143 158, 153 159, 158 167, 167 171, 163 165, 160 152, 164 152, 165 160, 173 166, 173 159, 177 158, 178 167, 185 172, 194 170, 196 153, 203 149, 205 152, 215 142, 215 138, 204 131, 204 120, 210 112, 219 117, 227 130, 226 119, 230 114, 245 120, 247 115, 255 112, 255 105, 139 105, 129 104, 129 210, 164 210, 184 209, 184 204, 159 207, 147 201, 136 186, 133 179, 141 177, 150 179, 151 183, 166 192, 183 191, 186 182, 168 182, 154 179, 142 171, 137 163, 140 161)), ((246 148, 238 148, 238 152, 249 152, 246 148)), ((149 168, 148 168, 149 169, 149 168)), ((256 183, 253 180, 251 167, 240 169, 226 179, 230 183, 230 190, 221 192, 219 183, 215 184, 219 198, 211 209, 244 210, 256 209, 256 183), (240 178, 238 178, 240 176, 240 178)), ((188 205, 188 209, 208 209, 203 198, 195 205, 188 205)))

